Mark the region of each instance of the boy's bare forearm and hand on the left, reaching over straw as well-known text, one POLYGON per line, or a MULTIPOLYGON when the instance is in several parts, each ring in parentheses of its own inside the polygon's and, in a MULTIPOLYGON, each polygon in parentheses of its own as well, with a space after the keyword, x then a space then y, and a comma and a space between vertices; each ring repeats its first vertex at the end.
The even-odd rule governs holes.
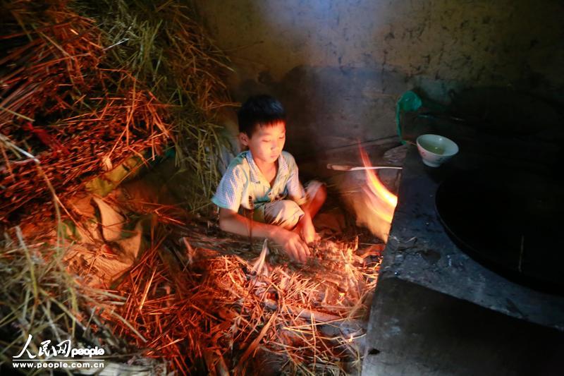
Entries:
POLYGON ((223 231, 253 238, 268 238, 282 246, 284 252, 294 260, 305 262, 309 257, 309 248, 300 235, 279 226, 252 222, 237 212, 223 207, 219 208, 219 227, 223 231), (252 231, 250 231, 252 229, 252 231))

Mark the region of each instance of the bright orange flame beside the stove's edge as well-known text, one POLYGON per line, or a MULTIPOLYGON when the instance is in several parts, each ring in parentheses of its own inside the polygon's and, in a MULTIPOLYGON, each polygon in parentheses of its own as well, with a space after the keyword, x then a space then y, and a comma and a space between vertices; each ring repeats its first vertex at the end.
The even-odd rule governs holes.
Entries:
MULTIPOLYGON (((372 166, 367 152, 360 147, 360 157, 365 167, 372 166)), ((364 190, 364 203, 366 208, 363 210, 363 217, 368 217, 367 225, 369 229, 384 241, 388 240, 388 233, 393 218, 393 211, 398 205, 398 196, 391 193, 376 175, 376 170, 364 170, 367 178, 367 186, 364 190)))

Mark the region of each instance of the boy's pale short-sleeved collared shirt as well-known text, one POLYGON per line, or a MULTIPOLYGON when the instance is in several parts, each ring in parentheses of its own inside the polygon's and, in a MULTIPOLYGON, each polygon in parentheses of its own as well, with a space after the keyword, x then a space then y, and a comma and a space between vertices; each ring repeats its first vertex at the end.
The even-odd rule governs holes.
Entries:
POLYGON ((238 212, 240 207, 252 210, 266 202, 286 198, 298 205, 307 202, 305 190, 298 179, 298 166, 292 154, 281 152, 276 178, 270 186, 252 159, 250 150, 247 150, 231 161, 212 202, 224 209, 238 212))

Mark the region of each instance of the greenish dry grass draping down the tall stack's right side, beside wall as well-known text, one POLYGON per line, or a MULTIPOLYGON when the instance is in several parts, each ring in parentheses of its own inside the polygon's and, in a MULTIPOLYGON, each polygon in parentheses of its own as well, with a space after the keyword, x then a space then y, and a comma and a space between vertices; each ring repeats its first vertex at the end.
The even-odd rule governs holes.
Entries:
POLYGON ((130 71, 168 109, 176 162, 191 174, 185 205, 209 205, 221 176, 217 117, 234 107, 224 78, 230 61, 206 37, 197 13, 185 1, 78 0, 73 6, 99 20, 112 66, 130 71))

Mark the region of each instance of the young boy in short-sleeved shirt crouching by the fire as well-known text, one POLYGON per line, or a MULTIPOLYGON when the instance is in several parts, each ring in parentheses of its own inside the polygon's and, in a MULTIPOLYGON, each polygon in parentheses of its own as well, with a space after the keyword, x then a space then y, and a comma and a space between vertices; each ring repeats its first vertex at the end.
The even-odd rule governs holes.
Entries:
POLYGON ((223 231, 268 238, 299 262, 309 256, 317 234, 312 218, 326 198, 319 182, 307 193, 298 166, 288 152, 286 113, 268 95, 250 97, 238 111, 239 140, 248 150, 238 154, 221 178, 212 202, 219 207, 223 231))

